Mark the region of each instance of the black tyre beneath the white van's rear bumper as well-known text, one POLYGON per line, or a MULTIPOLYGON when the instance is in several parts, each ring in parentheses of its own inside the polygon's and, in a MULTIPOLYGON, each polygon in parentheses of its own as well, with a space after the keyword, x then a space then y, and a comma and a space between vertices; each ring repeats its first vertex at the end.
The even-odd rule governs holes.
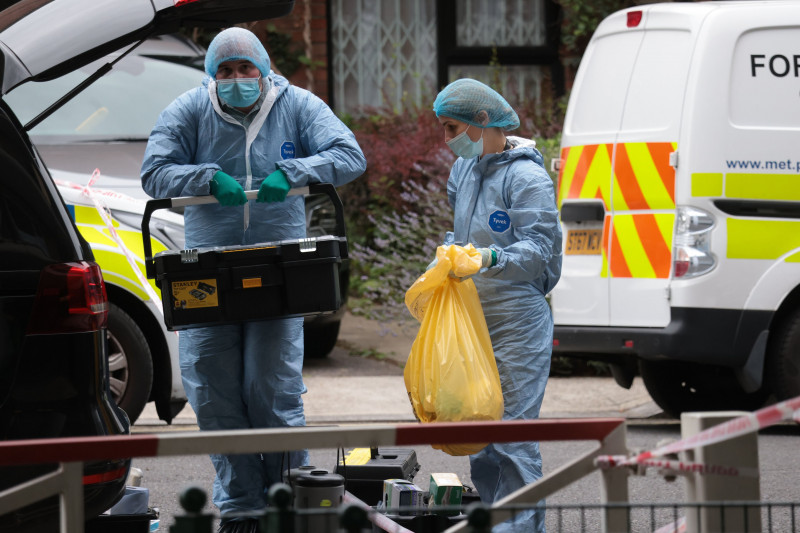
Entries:
POLYGON ((639 361, 647 392, 666 414, 689 411, 754 411, 764 405, 763 391, 747 393, 730 368, 685 361, 639 361))

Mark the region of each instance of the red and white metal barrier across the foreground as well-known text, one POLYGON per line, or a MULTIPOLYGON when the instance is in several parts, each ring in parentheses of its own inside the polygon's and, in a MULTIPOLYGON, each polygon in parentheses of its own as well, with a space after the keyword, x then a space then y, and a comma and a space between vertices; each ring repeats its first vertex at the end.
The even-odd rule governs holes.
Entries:
MULTIPOLYGON (((82 462, 125 457, 269 453, 300 449, 413 446, 480 442, 598 441, 597 447, 573 459, 536 483, 499 500, 494 508, 536 505, 580 478, 600 470, 595 458, 627 453, 625 421, 617 418, 569 420, 506 420, 474 423, 381 424, 357 427, 294 427, 261 430, 204 431, 192 433, 137 434, 108 437, 73 437, 0 442, 0 465, 60 463, 46 476, 0 492, 0 515, 52 495, 61 498, 62 533, 83 531, 82 462), (488 437, 488 436, 491 437, 488 437)), ((628 500, 627 473, 602 469, 604 502, 628 500)), ((504 520, 490 515, 492 524, 504 520)), ((604 530, 618 531, 624 513, 609 508, 604 530)), ((466 523, 451 528, 457 531, 466 523)))

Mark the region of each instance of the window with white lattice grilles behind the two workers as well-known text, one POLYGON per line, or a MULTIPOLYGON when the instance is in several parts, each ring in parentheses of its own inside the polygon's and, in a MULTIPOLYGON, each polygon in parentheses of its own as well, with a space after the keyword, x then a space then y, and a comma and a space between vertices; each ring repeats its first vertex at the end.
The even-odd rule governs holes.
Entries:
POLYGON ((479 79, 512 105, 563 91, 553 0, 330 0, 333 107, 360 114, 429 106, 479 79))

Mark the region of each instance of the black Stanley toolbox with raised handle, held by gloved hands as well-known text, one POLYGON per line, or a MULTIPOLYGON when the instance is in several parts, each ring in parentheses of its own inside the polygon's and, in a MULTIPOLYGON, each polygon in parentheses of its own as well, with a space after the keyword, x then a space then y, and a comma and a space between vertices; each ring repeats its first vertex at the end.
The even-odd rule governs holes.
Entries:
MULTIPOLYGON (((254 199, 258 191, 246 194, 254 199)), ((153 257, 149 223, 154 211, 217 200, 197 196, 147 202, 142 217, 145 268, 161 290, 167 329, 318 315, 341 307, 339 271, 348 260, 341 199, 327 183, 290 194, 327 195, 336 210, 336 235, 169 250, 153 257)))

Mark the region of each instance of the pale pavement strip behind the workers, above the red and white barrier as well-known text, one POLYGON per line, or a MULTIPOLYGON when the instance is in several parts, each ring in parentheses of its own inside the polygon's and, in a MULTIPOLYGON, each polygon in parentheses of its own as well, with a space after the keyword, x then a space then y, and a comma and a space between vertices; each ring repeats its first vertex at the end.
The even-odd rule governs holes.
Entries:
MULTIPOLYGON (((403 366, 414 335, 413 330, 389 332, 374 322, 347 314, 333 352, 327 358, 305 362, 308 393, 304 402, 308 423, 413 421, 403 366)), ((551 377, 542 403, 542 417, 585 416, 664 417, 638 378, 626 390, 608 377, 551 377)), ((191 408, 187 406, 174 424, 194 424, 191 408)), ((158 421, 153 405, 149 404, 137 426, 151 425, 163 422, 158 421)))

